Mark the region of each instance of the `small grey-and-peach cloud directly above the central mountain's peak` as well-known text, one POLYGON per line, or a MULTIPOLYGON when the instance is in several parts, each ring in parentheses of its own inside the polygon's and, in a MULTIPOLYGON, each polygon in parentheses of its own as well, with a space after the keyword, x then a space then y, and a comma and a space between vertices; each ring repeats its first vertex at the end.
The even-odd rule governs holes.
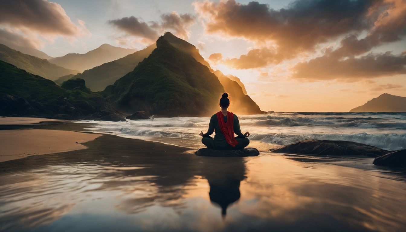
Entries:
POLYGON ((189 28, 195 22, 195 17, 190 14, 178 14, 173 11, 160 16, 161 21, 144 22, 142 19, 130 16, 117 20, 109 20, 108 24, 117 27, 128 35, 147 39, 147 42, 155 41, 164 31, 171 31, 181 39, 190 36, 189 28))

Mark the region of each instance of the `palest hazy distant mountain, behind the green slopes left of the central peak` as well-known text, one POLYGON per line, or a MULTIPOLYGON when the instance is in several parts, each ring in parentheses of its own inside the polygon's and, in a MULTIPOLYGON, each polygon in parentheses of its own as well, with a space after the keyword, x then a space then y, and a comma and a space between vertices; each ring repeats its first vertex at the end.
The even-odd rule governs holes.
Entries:
POLYGON ((100 47, 86 52, 85 54, 69 53, 65 56, 52 58, 49 61, 61 67, 77 69, 83 72, 86 69, 91 69, 103 63, 117 60, 135 51, 135 49, 114 47, 104 43, 100 47))

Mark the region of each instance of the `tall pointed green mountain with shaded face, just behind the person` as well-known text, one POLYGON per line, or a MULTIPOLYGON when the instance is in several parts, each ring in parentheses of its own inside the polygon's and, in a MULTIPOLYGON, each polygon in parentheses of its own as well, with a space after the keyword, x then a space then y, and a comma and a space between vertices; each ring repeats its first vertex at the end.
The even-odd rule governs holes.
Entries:
POLYGON ((165 33, 155 50, 135 69, 102 92, 119 110, 158 116, 209 116, 218 110, 224 88, 209 68, 165 33))

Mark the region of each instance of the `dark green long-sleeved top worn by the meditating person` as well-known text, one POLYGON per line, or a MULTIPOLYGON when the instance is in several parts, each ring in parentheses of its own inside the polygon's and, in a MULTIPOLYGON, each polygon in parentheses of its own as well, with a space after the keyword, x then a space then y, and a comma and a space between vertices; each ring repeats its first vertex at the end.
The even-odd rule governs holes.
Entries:
MULTIPOLYGON (((224 121, 227 122, 227 116, 223 116, 224 121)), ((240 129, 240 122, 238 121, 237 115, 234 115, 234 133, 237 134, 238 136, 244 136, 244 134, 241 133, 240 129)), ((214 135, 214 143, 218 147, 227 147, 228 143, 224 137, 223 132, 220 129, 220 125, 218 124, 218 119, 217 115, 214 114, 210 118, 210 123, 209 123, 209 130, 207 130, 207 133, 203 134, 203 137, 209 137, 210 135, 213 134, 214 130, 216 130, 216 135, 214 135)))

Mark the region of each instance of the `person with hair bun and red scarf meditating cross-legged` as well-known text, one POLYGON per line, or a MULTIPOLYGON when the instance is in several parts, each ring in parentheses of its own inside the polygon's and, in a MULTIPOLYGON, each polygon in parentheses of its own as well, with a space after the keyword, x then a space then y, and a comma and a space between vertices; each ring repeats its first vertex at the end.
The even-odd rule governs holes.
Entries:
POLYGON ((237 115, 227 111, 229 105, 230 100, 228 99, 228 94, 223 93, 220 98, 221 111, 215 113, 210 118, 209 130, 207 130, 207 133, 203 134, 203 131, 200 132, 200 136, 203 137, 202 143, 209 149, 243 149, 250 143, 247 139, 247 137, 250 136, 250 133, 241 133, 240 122, 238 121, 237 115), (213 134, 214 130, 216 130, 216 135, 214 135, 214 139, 212 139, 210 135, 213 134), (234 137, 234 133, 237 134, 238 137, 234 137))

